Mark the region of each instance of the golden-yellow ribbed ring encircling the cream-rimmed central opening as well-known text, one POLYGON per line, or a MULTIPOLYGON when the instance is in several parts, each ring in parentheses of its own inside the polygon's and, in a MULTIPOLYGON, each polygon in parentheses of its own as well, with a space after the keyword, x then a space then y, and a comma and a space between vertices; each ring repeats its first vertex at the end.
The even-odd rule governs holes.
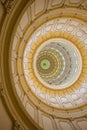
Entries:
MULTIPOLYGON (((44 86, 36 77, 34 69, 33 69, 33 65, 31 64, 30 69, 30 77, 33 80, 34 84, 37 85, 39 88, 41 88, 41 90, 43 92, 50 92, 51 94, 57 94, 57 95, 66 95, 66 94, 70 94, 71 92, 73 92, 75 89, 78 89, 78 87, 81 85, 81 83, 84 81, 86 74, 87 74, 87 61, 85 61, 85 59, 87 58, 87 52, 84 48, 83 43, 81 43, 79 41, 78 38, 76 38, 75 36, 71 35, 70 33, 67 32, 49 32, 48 34, 45 34, 43 37, 41 36, 37 42, 35 42, 32 47, 31 47, 31 51, 29 53, 29 61, 30 63, 32 63, 32 59, 34 58, 35 52, 37 50, 37 48, 46 40, 51 39, 51 38, 64 38, 67 39, 69 41, 71 41, 73 44, 75 44, 75 46, 77 47, 77 49, 79 50, 81 56, 82 56, 82 71, 81 74, 78 78, 78 80, 71 86, 69 86, 68 88, 63 88, 62 90, 51 90, 50 88, 48 89, 46 86, 44 86)), ((29 63, 29 64, 30 64, 29 63)))

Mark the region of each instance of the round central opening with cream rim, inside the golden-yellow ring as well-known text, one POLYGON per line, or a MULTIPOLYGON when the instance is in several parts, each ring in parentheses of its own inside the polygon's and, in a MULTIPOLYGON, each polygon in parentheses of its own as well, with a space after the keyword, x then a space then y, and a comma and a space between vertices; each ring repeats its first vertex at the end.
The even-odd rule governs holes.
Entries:
POLYGON ((71 86, 82 69, 80 52, 73 43, 63 38, 53 38, 42 43, 34 53, 33 63, 38 80, 52 89, 71 86), (46 66, 45 69, 41 67, 41 63, 46 66))

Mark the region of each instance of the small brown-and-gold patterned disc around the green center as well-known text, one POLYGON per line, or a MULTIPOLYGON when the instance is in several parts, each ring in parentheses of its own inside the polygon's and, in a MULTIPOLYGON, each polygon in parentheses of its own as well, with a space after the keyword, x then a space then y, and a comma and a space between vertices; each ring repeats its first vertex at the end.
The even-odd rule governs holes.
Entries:
POLYGON ((51 78, 61 70, 61 61, 59 55, 52 50, 41 51, 37 56, 36 68, 40 77, 51 78))

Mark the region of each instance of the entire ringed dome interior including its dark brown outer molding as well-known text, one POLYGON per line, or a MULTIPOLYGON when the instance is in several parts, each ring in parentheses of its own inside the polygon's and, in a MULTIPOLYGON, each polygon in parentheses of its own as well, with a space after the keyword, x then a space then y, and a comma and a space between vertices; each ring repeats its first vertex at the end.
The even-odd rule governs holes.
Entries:
POLYGON ((87 2, 25 1, 3 40, 9 101, 26 129, 86 130, 87 2))

